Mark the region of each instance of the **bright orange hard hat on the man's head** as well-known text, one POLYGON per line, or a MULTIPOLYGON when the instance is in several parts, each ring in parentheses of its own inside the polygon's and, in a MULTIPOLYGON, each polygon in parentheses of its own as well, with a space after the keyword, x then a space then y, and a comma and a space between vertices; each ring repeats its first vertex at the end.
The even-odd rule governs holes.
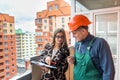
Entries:
POLYGON ((91 24, 89 19, 86 16, 81 15, 81 14, 75 15, 70 20, 70 22, 68 22, 68 26, 71 31, 78 29, 80 26, 88 26, 89 24, 91 24))

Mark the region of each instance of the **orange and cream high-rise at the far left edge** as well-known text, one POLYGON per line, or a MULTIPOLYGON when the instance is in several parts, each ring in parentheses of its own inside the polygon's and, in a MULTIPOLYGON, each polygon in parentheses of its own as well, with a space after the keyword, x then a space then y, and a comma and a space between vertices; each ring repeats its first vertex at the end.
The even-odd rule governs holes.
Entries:
POLYGON ((14 17, 0 13, 0 80, 17 74, 14 17))

